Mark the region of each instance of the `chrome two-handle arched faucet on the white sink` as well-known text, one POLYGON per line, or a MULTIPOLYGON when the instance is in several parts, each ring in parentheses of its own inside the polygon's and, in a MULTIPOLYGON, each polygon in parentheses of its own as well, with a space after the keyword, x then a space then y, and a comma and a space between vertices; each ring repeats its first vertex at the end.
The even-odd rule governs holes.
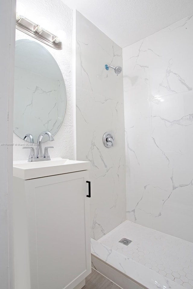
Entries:
POLYGON ((44 161, 44 160, 50 160, 48 149, 49 148, 54 148, 54 147, 45 147, 44 148, 44 154, 43 154, 43 152, 42 152, 42 139, 43 139, 44 135, 48 135, 49 136, 49 140, 50 141, 54 141, 54 137, 51 134, 51 132, 42 132, 42 133, 40 133, 40 135, 38 137, 38 140, 37 140, 37 153, 36 153, 36 156, 34 155, 35 151, 34 151, 33 147, 30 147, 30 146, 23 147, 23 148, 30 148, 30 150, 31 150, 30 151, 30 155, 28 157, 28 162, 39 162, 39 161, 44 161))

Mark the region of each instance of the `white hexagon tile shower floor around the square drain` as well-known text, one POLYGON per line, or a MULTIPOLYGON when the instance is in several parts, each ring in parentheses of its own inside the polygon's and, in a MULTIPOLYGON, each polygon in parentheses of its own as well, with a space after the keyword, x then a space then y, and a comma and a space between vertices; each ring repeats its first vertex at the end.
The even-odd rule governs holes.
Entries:
POLYGON ((193 289, 193 243, 125 221, 98 240, 129 259, 193 289), (128 246, 119 243, 131 240, 128 246))

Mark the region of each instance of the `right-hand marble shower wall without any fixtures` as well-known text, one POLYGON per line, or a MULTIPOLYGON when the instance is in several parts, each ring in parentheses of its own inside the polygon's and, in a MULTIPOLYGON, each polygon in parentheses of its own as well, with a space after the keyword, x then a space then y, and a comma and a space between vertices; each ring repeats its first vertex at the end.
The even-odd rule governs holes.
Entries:
POLYGON ((193 241, 193 17, 123 49, 127 219, 193 241))

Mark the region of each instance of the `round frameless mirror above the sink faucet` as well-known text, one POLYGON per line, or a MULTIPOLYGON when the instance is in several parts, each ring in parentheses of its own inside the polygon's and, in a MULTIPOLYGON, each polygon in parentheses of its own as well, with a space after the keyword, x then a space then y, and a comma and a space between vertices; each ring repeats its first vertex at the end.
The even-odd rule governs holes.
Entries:
POLYGON ((24 139, 26 134, 31 134, 35 143, 43 131, 55 135, 63 122, 65 109, 65 83, 54 57, 38 42, 17 40, 14 82, 16 135, 24 139))

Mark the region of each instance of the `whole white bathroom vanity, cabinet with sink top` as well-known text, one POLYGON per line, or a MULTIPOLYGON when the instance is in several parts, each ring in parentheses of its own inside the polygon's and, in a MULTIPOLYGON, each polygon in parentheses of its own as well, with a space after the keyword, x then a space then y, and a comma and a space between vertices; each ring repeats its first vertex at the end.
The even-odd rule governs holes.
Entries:
POLYGON ((14 162, 16 289, 80 289, 91 272, 89 162, 14 162))

